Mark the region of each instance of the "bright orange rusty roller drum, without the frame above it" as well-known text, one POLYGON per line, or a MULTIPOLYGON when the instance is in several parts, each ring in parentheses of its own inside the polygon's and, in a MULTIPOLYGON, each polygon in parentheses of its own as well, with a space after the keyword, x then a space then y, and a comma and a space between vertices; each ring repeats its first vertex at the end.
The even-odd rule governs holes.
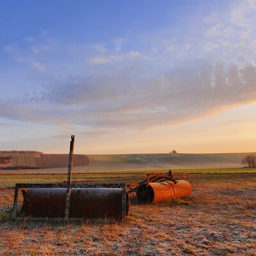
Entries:
POLYGON ((150 182, 143 184, 137 191, 137 198, 142 203, 151 203, 172 200, 191 195, 191 185, 187 180, 178 180, 177 183, 150 182))

